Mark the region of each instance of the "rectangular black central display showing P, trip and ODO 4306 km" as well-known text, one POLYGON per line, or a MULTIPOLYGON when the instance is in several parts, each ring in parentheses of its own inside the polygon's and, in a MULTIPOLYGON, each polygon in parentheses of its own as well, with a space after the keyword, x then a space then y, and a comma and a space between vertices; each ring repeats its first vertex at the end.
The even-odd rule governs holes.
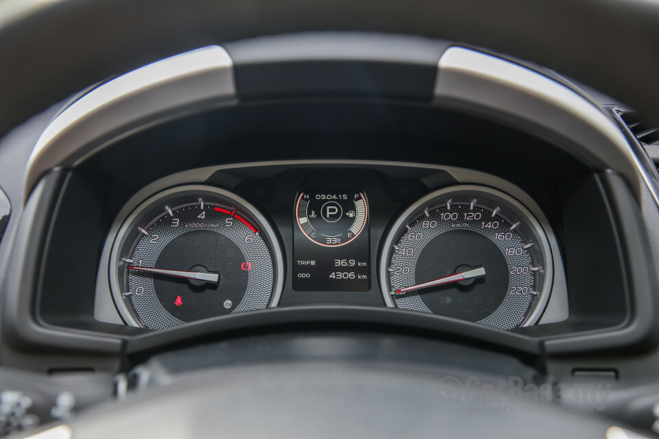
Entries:
POLYGON ((295 221, 293 289, 369 291, 369 218, 364 193, 299 193, 295 221))

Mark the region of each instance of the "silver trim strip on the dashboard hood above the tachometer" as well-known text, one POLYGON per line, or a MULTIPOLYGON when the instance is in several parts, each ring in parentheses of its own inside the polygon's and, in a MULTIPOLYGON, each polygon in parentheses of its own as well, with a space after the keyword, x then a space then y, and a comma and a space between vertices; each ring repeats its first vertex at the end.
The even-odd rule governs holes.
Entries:
POLYGON ((235 99, 233 61, 220 46, 172 56, 106 82, 73 102, 41 134, 25 171, 25 200, 54 167, 75 166, 135 130, 235 99))

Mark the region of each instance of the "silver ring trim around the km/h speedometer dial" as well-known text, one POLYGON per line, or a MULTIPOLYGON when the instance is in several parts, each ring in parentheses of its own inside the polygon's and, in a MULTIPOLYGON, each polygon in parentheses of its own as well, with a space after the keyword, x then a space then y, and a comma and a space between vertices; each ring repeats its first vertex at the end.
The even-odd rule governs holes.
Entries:
POLYGON ((527 327, 535 324, 540 319, 540 316, 542 316, 542 313, 544 313, 544 310, 546 309, 546 306, 548 304, 549 298, 551 297, 551 293, 552 293, 551 290, 554 280, 554 264, 553 264, 554 258, 551 251, 551 246, 547 238, 547 233, 548 231, 551 231, 551 228, 549 230, 546 230, 545 227, 548 228, 549 227, 548 224, 542 226, 540 222, 536 219, 535 215, 533 215, 533 213, 531 213, 531 211, 529 211, 529 209, 527 209, 526 206, 524 206, 515 198, 511 197, 511 195, 508 195, 507 193, 496 189, 492 189, 491 187, 485 187, 479 185, 455 185, 450 187, 444 187, 437 191, 428 193, 428 195, 425 195, 423 198, 420 198, 419 200, 411 204, 411 206, 409 206, 408 209, 406 209, 400 215, 400 217, 396 219, 396 221, 393 223, 391 228, 389 228, 389 232, 386 234, 386 239, 384 239, 384 244, 380 249, 380 256, 379 256, 380 289, 382 289, 382 296, 384 298, 384 302, 386 303, 386 306, 396 308, 395 302, 391 297, 391 294, 389 294, 389 287, 388 287, 389 280, 387 277, 387 273, 388 273, 387 268, 389 265, 389 254, 391 253, 391 248, 393 248, 393 244, 395 244, 395 240, 399 236, 400 230, 405 226, 405 224, 407 224, 413 213, 416 213, 424 206, 428 206, 428 203, 431 202, 432 200, 436 200, 442 195, 446 195, 447 193, 453 193, 456 191, 475 191, 475 192, 487 193, 490 195, 494 195, 498 198, 501 198, 502 200, 505 200, 506 202, 510 203, 513 207, 518 209, 518 211, 520 211, 520 213, 524 216, 524 219, 527 220, 531 224, 533 229, 536 231, 538 238, 540 239, 542 244, 542 253, 543 253, 544 261, 546 263, 544 283, 541 289, 542 294, 540 295, 540 300, 538 300, 537 304, 535 305, 535 309, 531 311, 531 313, 527 316, 527 318, 524 319, 524 322, 522 322, 520 326, 527 327))

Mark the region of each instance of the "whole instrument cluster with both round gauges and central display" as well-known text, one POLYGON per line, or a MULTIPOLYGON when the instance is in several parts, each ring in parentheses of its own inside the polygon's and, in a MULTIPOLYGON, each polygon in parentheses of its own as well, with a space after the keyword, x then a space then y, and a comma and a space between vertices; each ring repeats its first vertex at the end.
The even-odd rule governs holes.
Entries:
POLYGON ((358 298, 496 329, 539 322, 556 251, 542 212, 465 182, 392 200, 371 174, 309 171, 262 202, 208 182, 132 200, 106 244, 118 313, 165 329, 358 298))

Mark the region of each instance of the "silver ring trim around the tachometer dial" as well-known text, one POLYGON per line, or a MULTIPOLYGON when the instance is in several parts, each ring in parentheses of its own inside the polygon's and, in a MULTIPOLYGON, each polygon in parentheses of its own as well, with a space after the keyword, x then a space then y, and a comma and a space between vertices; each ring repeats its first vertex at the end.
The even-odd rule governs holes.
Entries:
POLYGON ((149 206, 156 204, 159 200, 183 192, 195 192, 202 195, 204 193, 209 193, 211 195, 216 195, 218 198, 235 202, 236 207, 243 211, 247 211, 253 216, 255 221, 259 224, 264 236, 268 237, 270 248, 273 252, 273 259, 276 265, 275 283, 273 286, 273 296, 270 298, 268 307, 276 307, 277 304, 279 304, 281 291, 284 288, 284 254, 281 252, 281 246, 279 246, 275 230, 266 217, 264 217, 264 215, 262 215, 262 213, 260 213, 252 204, 244 200, 244 198, 225 189, 208 185, 184 185, 165 189, 164 191, 155 193, 146 199, 137 195, 132 197, 128 203, 126 203, 126 206, 124 206, 122 211, 119 212, 119 215, 117 215, 117 218, 111 226, 111 231, 105 241, 103 250, 104 254, 109 250, 110 256, 106 264, 101 266, 100 270, 104 270, 107 273, 107 278, 110 282, 110 291, 108 293, 111 294, 114 305, 124 319, 124 322, 132 327, 143 327, 135 317, 134 311, 128 307, 126 300, 122 297, 122 287, 119 283, 119 272, 116 270, 119 266, 119 261, 122 258, 120 252, 126 244, 128 230, 133 226, 135 219, 148 209, 149 206))

